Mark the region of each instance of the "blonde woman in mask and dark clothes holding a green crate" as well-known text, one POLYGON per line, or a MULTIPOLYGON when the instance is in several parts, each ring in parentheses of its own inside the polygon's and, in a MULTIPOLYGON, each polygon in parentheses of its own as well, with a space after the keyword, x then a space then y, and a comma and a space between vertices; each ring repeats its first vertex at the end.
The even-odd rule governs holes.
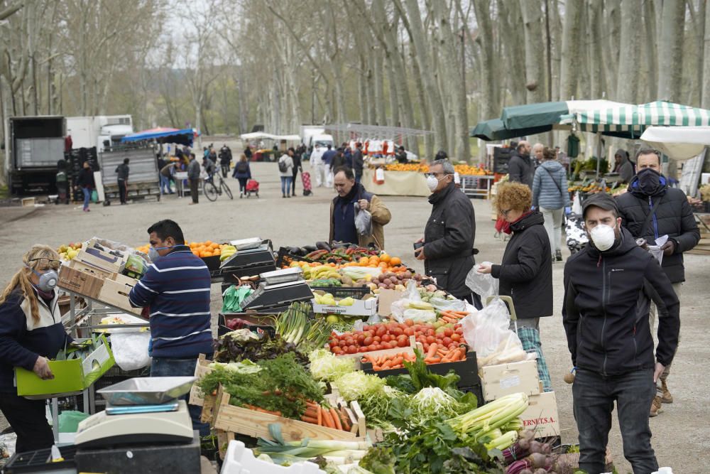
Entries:
POLYGON ((0 294, 0 411, 17 435, 18 453, 50 448, 54 436, 45 418, 45 402, 18 397, 13 370, 23 367, 51 379, 48 359, 72 343, 62 325, 55 290, 59 255, 35 244, 22 262, 0 294))

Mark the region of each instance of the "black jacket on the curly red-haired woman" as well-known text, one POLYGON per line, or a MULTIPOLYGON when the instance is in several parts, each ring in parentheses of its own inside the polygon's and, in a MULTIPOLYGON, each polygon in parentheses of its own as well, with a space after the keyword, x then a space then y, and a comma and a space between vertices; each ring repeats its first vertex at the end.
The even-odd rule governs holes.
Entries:
POLYGON ((500 279, 501 295, 513 298, 518 318, 552 316, 552 254, 540 212, 513 222, 503 261, 491 274, 500 279))

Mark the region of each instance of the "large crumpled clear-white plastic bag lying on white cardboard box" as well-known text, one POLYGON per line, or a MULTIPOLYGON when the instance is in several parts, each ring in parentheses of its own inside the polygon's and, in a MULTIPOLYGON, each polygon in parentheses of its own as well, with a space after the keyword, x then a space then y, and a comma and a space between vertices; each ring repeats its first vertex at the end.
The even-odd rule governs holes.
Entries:
POLYGON ((479 367, 525 360, 523 343, 509 325, 508 306, 499 298, 461 320, 464 339, 476 351, 479 367))

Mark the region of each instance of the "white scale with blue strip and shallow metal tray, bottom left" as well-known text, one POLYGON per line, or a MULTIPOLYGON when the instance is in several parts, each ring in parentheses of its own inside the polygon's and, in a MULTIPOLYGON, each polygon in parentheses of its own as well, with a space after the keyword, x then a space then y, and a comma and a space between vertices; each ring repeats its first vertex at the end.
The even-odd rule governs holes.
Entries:
POLYGON ((101 389, 107 409, 80 422, 75 444, 190 443, 192 419, 184 400, 195 377, 135 377, 101 389))

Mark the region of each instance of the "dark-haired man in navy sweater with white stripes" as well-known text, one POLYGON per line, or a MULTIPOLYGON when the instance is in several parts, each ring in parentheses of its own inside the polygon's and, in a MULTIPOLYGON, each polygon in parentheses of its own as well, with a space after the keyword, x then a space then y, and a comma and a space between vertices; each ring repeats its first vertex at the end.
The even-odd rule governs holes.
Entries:
MULTIPOLYGON (((180 226, 161 220, 148 229, 153 264, 129 293, 131 305, 148 308, 151 322, 151 377, 195 373, 198 355, 212 354, 209 270, 185 245, 180 226)), ((186 398, 186 397, 185 397, 186 398)), ((192 426, 201 436, 200 407, 188 406, 192 426)))

